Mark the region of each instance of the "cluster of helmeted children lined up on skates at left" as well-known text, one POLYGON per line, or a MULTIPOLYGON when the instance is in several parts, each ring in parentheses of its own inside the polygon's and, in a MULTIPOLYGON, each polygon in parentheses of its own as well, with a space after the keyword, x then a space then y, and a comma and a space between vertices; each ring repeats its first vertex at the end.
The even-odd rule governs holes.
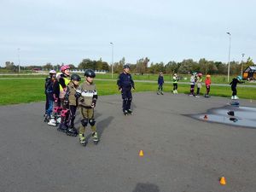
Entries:
POLYGON ((48 125, 58 126, 58 131, 65 132, 68 136, 76 137, 79 134, 79 143, 86 145, 84 137, 87 125, 91 127, 91 135, 94 143, 99 142, 94 119, 94 108, 97 101, 96 85, 93 79, 96 74, 88 69, 84 73, 84 82, 79 84, 81 78, 78 74, 70 75, 70 67, 61 67, 61 73, 49 71, 49 77, 45 79, 45 118, 48 125), (74 127, 76 111, 80 108, 82 115, 79 133, 74 127))

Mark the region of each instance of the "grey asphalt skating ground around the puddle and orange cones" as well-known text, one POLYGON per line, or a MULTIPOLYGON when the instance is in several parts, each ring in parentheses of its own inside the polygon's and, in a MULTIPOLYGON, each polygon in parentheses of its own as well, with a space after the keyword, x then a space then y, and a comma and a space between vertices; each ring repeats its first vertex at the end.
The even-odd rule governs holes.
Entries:
MULTIPOLYGON (((183 115, 223 107, 229 99, 133 96, 134 114, 127 117, 119 95, 99 97, 101 142, 88 135, 85 148, 78 137, 45 125, 44 102, 0 107, 0 191, 255 191, 256 130, 183 115), (226 185, 218 182, 222 176, 226 185)), ((256 107, 255 101, 241 105, 256 107)))

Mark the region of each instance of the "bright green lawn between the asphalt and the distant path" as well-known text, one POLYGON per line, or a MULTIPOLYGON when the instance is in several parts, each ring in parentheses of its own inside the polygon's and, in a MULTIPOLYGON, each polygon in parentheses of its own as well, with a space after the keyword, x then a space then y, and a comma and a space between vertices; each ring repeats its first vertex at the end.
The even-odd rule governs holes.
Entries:
MULTIPOLYGON (((96 87, 99 96, 119 94, 115 81, 105 81, 96 79, 96 87)), ((44 79, 1 79, 0 80, 0 105, 9 105, 26 102, 39 102, 45 100, 44 95, 44 79)), ((156 83, 136 83, 135 92, 141 91, 156 91, 156 83)), ((166 94, 171 94, 172 84, 165 84, 164 91, 166 94)), ((206 89, 201 89, 201 94, 205 93, 206 89)), ((256 89, 248 87, 238 87, 238 96, 241 98, 256 100, 256 89)), ((178 84, 179 93, 189 93, 189 84, 178 84)), ((212 86, 212 96, 227 96, 230 97, 230 87, 212 86)))

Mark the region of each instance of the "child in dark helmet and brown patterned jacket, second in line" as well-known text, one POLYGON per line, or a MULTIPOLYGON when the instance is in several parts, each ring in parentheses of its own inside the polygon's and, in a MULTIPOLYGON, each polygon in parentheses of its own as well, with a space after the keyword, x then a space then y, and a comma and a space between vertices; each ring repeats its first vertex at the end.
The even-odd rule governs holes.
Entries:
POLYGON ((81 78, 78 74, 71 75, 71 81, 67 85, 66 94, 64 96, 64 103, 69 106, 67 135, 74 137, 78 135, 78 131, 74 128, 73 122, 76 117, 76 111, 78 108, 78 100, 75 97, 75 93, 79 88, 79 81, 81 81, 81 78))

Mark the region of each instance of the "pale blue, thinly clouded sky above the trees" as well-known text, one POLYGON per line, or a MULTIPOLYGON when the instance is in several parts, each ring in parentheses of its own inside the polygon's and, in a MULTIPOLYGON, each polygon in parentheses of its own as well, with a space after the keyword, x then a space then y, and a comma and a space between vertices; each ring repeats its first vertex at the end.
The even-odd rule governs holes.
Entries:
POLYGON ((230 43, 230 61, 242 54, 255 61, 255 7, 253 0, 0 0, 0 66, 110 64, 112 48, 114 62, 228 62, 230 43))

